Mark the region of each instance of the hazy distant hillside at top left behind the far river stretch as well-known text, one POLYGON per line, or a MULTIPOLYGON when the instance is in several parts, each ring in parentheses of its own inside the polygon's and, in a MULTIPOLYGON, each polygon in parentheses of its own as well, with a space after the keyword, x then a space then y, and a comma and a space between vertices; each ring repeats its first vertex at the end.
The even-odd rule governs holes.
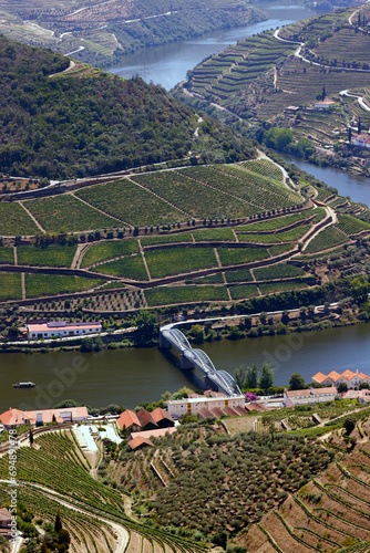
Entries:
POLYGON ((97 66, 141 48, 266 19, 247 0, 0 1, 0 33, 97 66), (83 41, 83 43, 81 43, 83 41))

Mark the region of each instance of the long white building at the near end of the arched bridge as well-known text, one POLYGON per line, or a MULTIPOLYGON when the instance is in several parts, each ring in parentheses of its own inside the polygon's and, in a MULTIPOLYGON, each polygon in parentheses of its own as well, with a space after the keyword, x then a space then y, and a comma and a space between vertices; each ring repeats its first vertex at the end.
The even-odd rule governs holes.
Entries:
POLYGON ((210 415, 213 415, 212 411, 214 409, 217 409, 215 415, 219 416, 219 409, 224 411, 225 408, 226 411, 223 413, 225 415, 232 415, 229 409, 236 411, 235 416, 241 415, 240 409, 243 409, 244 415, 247 414, 245 410, 245 397, 243 395, 224 397, 219 395, 215 397, 198 396, 168 400, 168 413, 175 418, 181 418, 184 415, 198 415, 202 409, 207 409, 210 411, 210 415))

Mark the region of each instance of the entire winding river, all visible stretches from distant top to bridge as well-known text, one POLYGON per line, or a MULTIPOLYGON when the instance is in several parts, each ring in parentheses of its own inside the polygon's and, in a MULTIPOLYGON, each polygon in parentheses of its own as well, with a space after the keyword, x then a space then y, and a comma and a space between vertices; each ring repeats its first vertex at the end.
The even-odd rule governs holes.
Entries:
MULTIPOLYGON (((270 19, 247 28, 216 31, 184 43, 173 43, 141 51, 126 56, 111 72, 130 77, 138 73, 146 80, 171 88, 183 80, 186 71, 206 55, 224 49, 264 29, 281 27, 314 14, 299 6, 268 4, 270 19)), ((370 206, 369 179, 346 173, 312 166, 294 160, 339 192, 354 201, 370 206)), ((202 348, 209 355, 216 368, 230 373, 239 365, 275 366, 275 383, 288 384, 291 373, 298 372, 306 382, 321 371, 323 373, 346 368, 370 374, 369 326, 327 330, 316 333, 264 336, 238 342, 206 343, 202 348)), ((140 401, 160 399, 167 389, 174 392, 189 385, 188 378, 157 348, 127 348, 104 351, 99 354, 47 353, 0 355, 0 410, 50 408, 62 399, 73 398, 93 407, 109 404, 134 407, 140 401), (30 389, 16 389, 12 384, 32 380, 38 385, 30 389)))

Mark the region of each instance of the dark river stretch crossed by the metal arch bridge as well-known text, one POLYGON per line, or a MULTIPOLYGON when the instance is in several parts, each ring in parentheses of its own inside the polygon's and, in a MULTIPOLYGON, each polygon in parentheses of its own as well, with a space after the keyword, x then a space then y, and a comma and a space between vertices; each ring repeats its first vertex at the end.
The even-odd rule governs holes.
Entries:
MULTIPOLYGON (((346 368, 370 374, 369 326, 330 328, 320 332, 224 340, 202 345, 216 368, 233 374, 240 365, 271 363, 275 384, 288 384, 292 373, 306 382, 319 371, 341 373, 346 368)), ((109 404, 134 407, 158 400, 166 392, 192 386, 188 378, 158 348, 126 348, 99 354, 48 353, 0 355, 0 413, 9 407, 45 409, 62 399, 93 407, 109 404), (35 388, 17 389, 18 380, 33 380, 35 388)))

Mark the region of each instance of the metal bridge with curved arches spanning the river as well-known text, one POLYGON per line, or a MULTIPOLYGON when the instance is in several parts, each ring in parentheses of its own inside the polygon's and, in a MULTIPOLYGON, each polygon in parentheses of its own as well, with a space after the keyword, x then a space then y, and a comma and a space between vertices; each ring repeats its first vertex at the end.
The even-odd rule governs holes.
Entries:
POLYGON ((241 394, 235 378, 229 373, 217 371, 203 349, 193 348, 186 336, 178 328, 173 328, 173 325, 168 324, 160 328, 160 347, 169 349, 172 346, 182 354, 181 368, 199 368, 205 375, 206 387, 223 392, 228 396, 241 394))

